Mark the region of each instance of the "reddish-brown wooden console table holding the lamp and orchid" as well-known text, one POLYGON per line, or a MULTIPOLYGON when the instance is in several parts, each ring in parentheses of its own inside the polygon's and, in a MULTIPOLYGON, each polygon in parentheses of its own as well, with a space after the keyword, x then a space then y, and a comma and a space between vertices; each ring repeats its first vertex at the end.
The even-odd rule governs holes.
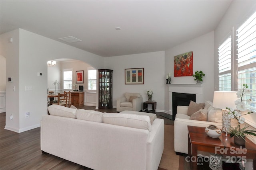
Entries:
MULTIPOLYGON (((194 156, 193 160, 197 160, 198 150, 222 154, 224 158, 225 156, 244 156, 245 159, 253 159, 253 167, 256 169, 256 145, 248 138, 246 138, 245 145, 240 147, 234 144, 234 137, 231 138, 230 134, 226 137, 222 133, 218 138, 211 138, 205 133, 205 127, 188 126, 188 155, 190 158, 194 156)), ((190 161, 191 170, 197 169, 197 163, 190 161)))

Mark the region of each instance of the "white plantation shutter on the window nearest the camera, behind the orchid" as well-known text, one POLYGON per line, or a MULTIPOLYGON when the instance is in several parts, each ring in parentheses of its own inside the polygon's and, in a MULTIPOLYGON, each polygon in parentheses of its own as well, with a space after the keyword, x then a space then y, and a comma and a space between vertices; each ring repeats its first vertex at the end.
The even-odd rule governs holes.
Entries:
POLYGON ((252 100, 248 108, 256 111, 256 12, 237 29, 236 36, 238 88, 248 85, 246 99, 252 100))

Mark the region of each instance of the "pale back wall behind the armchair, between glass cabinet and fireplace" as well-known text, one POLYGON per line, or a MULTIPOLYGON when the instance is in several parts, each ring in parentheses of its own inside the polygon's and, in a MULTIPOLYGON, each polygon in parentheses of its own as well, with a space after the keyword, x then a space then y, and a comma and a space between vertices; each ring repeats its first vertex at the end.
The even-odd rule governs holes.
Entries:
MULTIPOLYGON (((164 51, 105 58, 105 69, 113 71, 113 107, 116 99, 125 92, 139 92, 143 101, 148 101, 146 90, 153 90, 157 102, 156 111, 164 111, 164 51), (144 84, 124 84, 125 68, 144 68, 144 84)), ((102 68, 103 69, 103 68, 102 68)))

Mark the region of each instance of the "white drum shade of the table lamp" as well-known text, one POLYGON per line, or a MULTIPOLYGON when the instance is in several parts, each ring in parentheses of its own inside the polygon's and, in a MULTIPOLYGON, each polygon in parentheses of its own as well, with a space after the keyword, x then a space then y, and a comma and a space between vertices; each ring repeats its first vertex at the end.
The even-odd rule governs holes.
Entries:
POLYGON ((219 109, 236 109, 235 101, 238 100, 237 92, 232 91, 215 91, 212 106, 219 109))

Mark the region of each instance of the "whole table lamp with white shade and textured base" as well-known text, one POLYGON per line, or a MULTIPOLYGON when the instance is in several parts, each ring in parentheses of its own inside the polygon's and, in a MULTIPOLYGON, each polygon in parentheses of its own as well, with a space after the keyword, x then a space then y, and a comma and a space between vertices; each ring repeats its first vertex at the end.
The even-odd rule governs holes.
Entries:
POLYGON ((236 109, 235 101, 238 99, 237 92, 233 91, 215 91, 213 96, 212 106, 222 109, 222 132, 229 133, 231 119, 228 119, 229 110, 226 107, 236 109))

